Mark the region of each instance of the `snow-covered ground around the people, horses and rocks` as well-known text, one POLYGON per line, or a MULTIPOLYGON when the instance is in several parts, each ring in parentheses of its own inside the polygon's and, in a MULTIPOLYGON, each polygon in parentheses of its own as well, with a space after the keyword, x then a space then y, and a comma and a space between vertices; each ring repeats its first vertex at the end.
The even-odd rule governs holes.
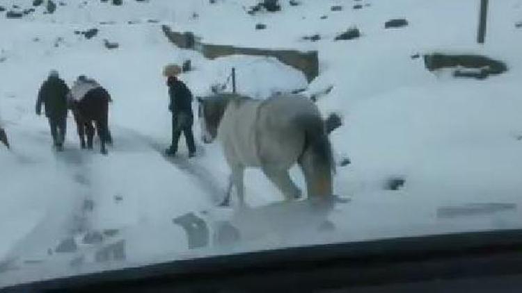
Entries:
MULTIPOLYGON (((0 0, 0 6, 24 9, 30 2, 0 0)), ((48 255, 81 230, 118 229, 126 241, 125 262, 95 269, 232 252, 189 251, 172 223, 186 212, 212 210, 228 176, 217 144, 198 140, 198 157, 185 162, 182 139, 182 158, 161 156, 171 126, 161 69, 188 58, 194 70, 181 78, 195 96, 209 94, 210 85, 225 81, 236 67, 239 92, 260 99, 333 86, 317 104, 325 116, 337 112, 345 122, 331 141, 337 162, 351 160, 335 175, 335 193, 351 202, 332 212, 335 231, 292 239, 262 235, 235 251, 521 227, 522 28, 515 24, 522 20, 522 0, 490 3, 484 45, 475 44, 476 0, 282 1, 282 11, 253 16, 245 10, 254 0, 110 2, 69 0, 54 14, 37 7, 22 19, 0 12, 0 124, 12 147, 0 145, 0 287, 88 271, 88 264, 70 271, 61 256, 48 255), (363 8, 353 10, 356 3, 363 8), (343 9, 331 11, 334 5, 343 9), (384 22, 401 17, 409 26, 384 29, 384 22), (256 31, 258 23, 267 29, 256 31), (216 44, 317 50, 319 76, 307 85, 301 72, 271 58, 206 60, 170 44, 160 24, 216 44), (359 39, 333 42, 351 26, 361 30, 359 39), (90 28, 100 29, 90 40, 74 34, 90 28), (321 40, 302 40, 316 33, 321 40), (104 39, 120 47, 108 50, 104 39), (436 51, 497 58, 509 71, 484 81, 455 79, 428 72, 422 58, 411 58, 436 51), (79 150, 72 117, 65 151, 54 153, 47 119, 34 113, 50 69, 69 84, 86 74, 109 90, 115 140, 109 156, 79 150), (393 177, 404 178, 404 187, 385 190, 393 177), (485 212, 441 217, 443 208, 469 204, 485 204, 485 212), (49 263, 54 274, 43 269, 49 263)), ((194 128, 198 137, 197 123, 194 128)), ((297 169, 292 176, 303 186, 297 169)), ((245 180, 251 206, 282 199, 260 171, 247 171, 245 180)))

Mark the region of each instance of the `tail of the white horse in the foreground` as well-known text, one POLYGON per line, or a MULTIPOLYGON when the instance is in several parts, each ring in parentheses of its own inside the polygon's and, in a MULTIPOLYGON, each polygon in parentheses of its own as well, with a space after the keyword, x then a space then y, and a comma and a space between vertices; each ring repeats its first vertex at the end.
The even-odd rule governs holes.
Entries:
POLYGON ((299 158, 308 196, 333 195, 335 163, 330 140, 321 117, 303 119, 305 145, 299 158))

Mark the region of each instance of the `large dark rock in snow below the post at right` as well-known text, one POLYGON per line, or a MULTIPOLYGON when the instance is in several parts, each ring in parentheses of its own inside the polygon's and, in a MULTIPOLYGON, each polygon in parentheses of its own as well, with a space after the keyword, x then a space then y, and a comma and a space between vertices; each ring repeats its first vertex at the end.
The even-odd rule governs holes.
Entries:
POLYGON ((455 77, 484 79, 490 74, 498 75, 507 72, 505 62, 480 55, 446 55, 443 53, 426 54, 424 64, 430 72, 443 68, 455 69, 455 77))

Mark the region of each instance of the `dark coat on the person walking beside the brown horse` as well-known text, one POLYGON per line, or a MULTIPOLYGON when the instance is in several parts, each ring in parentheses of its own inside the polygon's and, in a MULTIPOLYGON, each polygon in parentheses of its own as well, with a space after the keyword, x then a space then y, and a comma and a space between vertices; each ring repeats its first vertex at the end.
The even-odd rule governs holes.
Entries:
POLYGON ((36 112, 42 110, 45 105, 45 116, 59 118, 67 116, 67 95, 69 87, 58 77, 49 77, 40 87, 38 100, 36 101, 36 112))

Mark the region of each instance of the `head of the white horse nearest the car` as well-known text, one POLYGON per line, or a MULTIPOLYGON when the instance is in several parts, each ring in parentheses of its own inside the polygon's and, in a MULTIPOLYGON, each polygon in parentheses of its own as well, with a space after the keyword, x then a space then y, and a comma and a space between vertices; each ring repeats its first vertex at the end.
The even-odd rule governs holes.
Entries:
POLYGON ((198 118, 201 125, 201 140, 212 143, 218 134, 221 118, 231 100, 230 94, 219 94, 212 97, 198 97, 198 118))

